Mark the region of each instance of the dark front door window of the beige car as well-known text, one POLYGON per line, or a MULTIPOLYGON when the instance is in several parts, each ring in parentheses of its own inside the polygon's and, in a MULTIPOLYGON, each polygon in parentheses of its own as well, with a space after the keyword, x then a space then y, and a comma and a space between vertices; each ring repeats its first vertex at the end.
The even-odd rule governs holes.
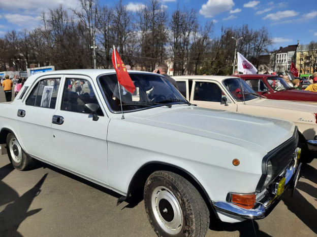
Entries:
POLYGON ((194 100, 221 102, 221 89, 208 82, 196 82, 194 100))

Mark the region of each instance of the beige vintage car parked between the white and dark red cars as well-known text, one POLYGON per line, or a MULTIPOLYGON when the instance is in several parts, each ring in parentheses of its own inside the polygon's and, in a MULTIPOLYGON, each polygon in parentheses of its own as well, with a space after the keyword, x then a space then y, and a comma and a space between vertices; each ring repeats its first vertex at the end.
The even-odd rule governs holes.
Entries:
MULTIPOLYGON (((182 95, 199 107, 278 117, 298 126, 302 161, 317 157, 317 102, 269 100, 232 76, 173 76, 182 95)), ((259 134, 261 136, 261 134, 259 134)))

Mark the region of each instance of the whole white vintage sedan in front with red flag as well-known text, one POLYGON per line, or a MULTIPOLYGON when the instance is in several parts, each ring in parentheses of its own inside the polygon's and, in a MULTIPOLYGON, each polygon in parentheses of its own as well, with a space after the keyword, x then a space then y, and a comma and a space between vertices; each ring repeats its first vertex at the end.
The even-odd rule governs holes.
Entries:
POLYGON ((30 76, 0 104, 12 165, 40 160, 122 194, 118 203, 141 191, 160 236, 204 236, 213 213, 231 223, 264 218, 294 190, 294 123, 192 106, 164 76, 129 73, 133 94, 114 70, 30 76))

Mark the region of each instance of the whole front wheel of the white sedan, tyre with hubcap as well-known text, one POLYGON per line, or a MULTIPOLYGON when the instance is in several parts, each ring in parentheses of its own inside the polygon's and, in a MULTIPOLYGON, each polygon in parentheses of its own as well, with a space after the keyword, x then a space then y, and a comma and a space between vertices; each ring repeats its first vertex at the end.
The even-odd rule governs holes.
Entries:
POLYGON ((209 210, 198 190, 169 171, 152 173, 144 187, 145 210, 158 236, 205 236, 209 210))

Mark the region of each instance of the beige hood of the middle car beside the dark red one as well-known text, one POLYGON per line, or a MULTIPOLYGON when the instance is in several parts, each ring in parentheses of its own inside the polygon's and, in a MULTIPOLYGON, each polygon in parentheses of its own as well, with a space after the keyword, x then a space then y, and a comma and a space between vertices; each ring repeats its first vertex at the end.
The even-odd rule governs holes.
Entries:
POLYGON ((292 111, 317 113, 317 103, 306 103, 288 100, 253 99, 245 102, 249 105, 270 107, 276 109, 290 109, 292 111))

